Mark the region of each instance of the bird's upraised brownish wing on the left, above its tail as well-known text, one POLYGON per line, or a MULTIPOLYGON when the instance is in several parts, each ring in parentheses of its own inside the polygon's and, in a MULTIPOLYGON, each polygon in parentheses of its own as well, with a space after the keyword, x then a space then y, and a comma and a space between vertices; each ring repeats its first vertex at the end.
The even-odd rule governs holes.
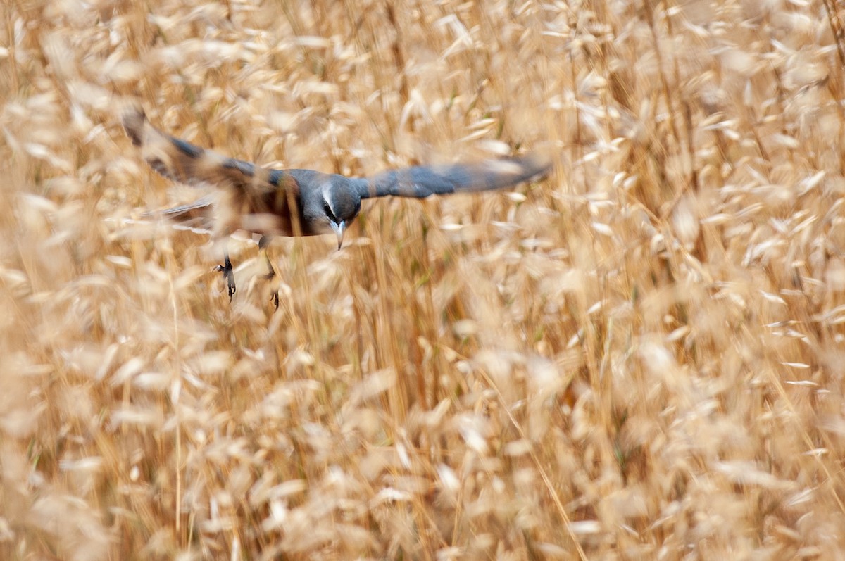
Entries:
POLYGON ((231 186, 248 193, 266 193, 289 183, 280 170, 229 158, 162 133, 138 108, 123 114, 123 128, 150 167, 177 182, 231 186))

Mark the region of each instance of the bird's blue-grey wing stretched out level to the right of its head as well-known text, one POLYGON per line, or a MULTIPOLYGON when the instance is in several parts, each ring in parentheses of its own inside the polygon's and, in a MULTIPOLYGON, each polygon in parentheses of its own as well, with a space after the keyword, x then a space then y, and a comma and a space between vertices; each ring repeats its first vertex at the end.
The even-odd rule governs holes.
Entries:
POLYGON ((523 156, 477 164, 416 166, 353 180, 362 199, 472 193, 510 187, 548 173, 551 164, 537 156, 523 156))

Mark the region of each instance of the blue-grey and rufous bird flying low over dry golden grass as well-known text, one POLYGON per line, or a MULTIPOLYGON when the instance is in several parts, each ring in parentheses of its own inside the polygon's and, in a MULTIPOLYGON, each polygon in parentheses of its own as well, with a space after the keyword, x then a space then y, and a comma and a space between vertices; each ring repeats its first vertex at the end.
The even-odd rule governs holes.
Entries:
MULTIPOLYGON (((177 222, 199 217, 215 238, 235 231, 259 234, 259 251, 269 270, 267 279, 275 275, 267 256, 272 237, 334 233, 340 249, 344 232, 361 211, 362 199, 387 195, 424 199, 433 194, 488 191, 541 177, 551 167, 548 161, 526 155, 345 177, 313 170, 268 169, 205 150, 153 127, 139 107, 123 113, 123 128, 144 160, 162 176, 188 185, 215 187, 209 196, 147 215, 177 222)), ((231 301, 237 288, 228 251, 224 251, 223 264, 215 269, 226 278, 231 301)), ((273 302, 278 308, 278 292, 273 302)))

